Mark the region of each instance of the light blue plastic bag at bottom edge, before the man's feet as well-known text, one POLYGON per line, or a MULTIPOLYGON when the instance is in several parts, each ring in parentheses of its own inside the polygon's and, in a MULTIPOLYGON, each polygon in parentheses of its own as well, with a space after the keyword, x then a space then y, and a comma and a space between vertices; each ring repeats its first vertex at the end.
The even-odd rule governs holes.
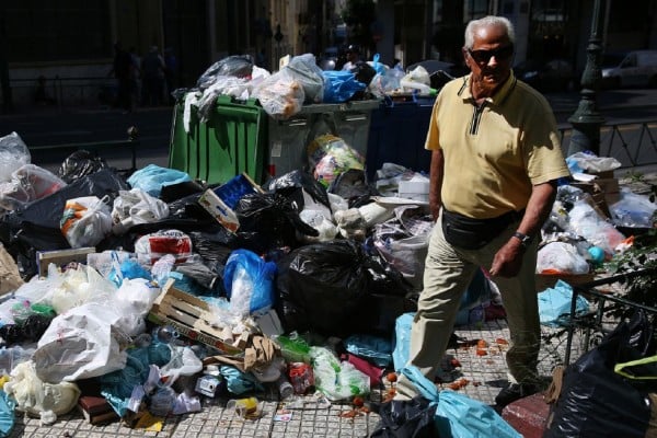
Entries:
POLYGON ((402 373, 436 408, 436 430, 442 438, 522 438, 487 404, 451 390, 438 392, 436 385, 417 367, 405 367, 402 373))

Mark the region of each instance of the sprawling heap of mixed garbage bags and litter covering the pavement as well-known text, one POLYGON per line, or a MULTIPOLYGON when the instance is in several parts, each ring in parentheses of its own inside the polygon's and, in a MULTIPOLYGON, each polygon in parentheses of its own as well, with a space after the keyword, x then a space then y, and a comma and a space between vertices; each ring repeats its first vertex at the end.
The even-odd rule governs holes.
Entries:
MULTIPOLYGON (((369 184, 358 157, 325 159, 348 151, 335 141, 312 172, 208 186, 155 165, 126 178, 79 153, 53 174, 18 134, 1 138, 2 415, 53 424, 100 397, 105 411, 83 406, 92 423, 161 427, 204 397, 274 388, 331 403, 401 369, 434 226, 428 183, 387 164, 369 184)), ((639 212, 619 196, 612 220, 647 226, 637 218, 654 204, 639 212)), ((591 199, 560 187, 539 274, 588 272, 629 244, 591 199)), ((482 272, 458 320, 482 321, 484 302, 502 306, 482 272)))

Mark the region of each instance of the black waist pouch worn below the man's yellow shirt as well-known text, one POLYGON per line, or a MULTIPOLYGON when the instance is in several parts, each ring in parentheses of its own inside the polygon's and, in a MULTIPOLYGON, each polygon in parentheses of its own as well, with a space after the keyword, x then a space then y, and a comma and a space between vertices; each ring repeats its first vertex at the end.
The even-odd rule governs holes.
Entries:
POLYGON ((492 219, 473 219, 442 208, 442 233, 450 244, 463 250, 479 250, 522 218, 523 211, 509 211, 492 219))

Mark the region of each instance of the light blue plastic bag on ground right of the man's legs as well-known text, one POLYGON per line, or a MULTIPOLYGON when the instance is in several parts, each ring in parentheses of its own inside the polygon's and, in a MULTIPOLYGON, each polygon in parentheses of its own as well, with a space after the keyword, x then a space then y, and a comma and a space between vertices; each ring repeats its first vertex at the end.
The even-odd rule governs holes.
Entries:
MULTIPOLYGON (((551 327, 565 326, 570 318, 573 288, 564 280, 557 280, 553 288, 539 293, 539 319, 541 324, 551 327)), ((589 312, 589 302, 581 295, 577 296, 575 314, 589 312)))

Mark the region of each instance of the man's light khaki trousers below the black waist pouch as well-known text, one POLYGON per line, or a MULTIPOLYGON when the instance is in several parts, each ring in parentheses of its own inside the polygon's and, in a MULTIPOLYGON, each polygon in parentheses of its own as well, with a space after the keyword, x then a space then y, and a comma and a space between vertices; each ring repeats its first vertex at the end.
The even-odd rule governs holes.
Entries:
MULTIPOLYGON (((461 297, 476 269, 488 268, 495 253, 511 238, 518 222, 511 223, 492 242, 479 250, 461 250, 450 245, 442 233, 442 214, 431 231, 425 263, 424 289, 411 328, 410 365, 434 381, 452 333, 461 297)), ((522 268, 514 278, 493 278, 507 314, 510 331, 506 361, 511 382, 535 382, 541 328, 535 291, 538 242, 525 251, 522 268)), ((397 382, 397 400, 418 395, 403 376, 397 382)))

